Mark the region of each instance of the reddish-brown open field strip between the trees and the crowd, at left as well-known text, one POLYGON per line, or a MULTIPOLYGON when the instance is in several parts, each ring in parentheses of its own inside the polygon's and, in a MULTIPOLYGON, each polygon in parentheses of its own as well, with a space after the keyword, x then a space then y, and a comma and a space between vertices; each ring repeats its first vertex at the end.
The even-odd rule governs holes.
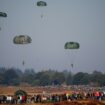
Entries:
POLYGON ((50 94, 62 94, 67 89, 62 87, 30 87, 30 86, 0 86, 0 95, 14 95, 17 90, 24 90, 28 95, 42 94, 47 92, 50 94))

